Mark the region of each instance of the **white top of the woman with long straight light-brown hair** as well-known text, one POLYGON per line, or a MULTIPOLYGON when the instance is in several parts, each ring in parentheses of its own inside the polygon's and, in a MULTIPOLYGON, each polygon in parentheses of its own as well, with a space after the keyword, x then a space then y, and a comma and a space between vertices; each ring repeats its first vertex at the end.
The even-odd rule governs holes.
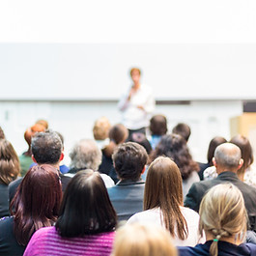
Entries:
MULTIPOLYGON (((176 246, 195 246, 197 243, 205 242, 205 236, 201 238, 199 234, 199 214, 191 209, 181 207, 181 211, 185 216, 185 221, 187 224, 188 236, 183 241, 180 240, 178 236, 173 238, 173 242, 176 246)), ((140 223, 154 223, 157 226, 165 228, 162 220, 162 214, 159 208, 143 211, 140 213, 135 213, 129 219, 127 224, 140 222, 140 223)))

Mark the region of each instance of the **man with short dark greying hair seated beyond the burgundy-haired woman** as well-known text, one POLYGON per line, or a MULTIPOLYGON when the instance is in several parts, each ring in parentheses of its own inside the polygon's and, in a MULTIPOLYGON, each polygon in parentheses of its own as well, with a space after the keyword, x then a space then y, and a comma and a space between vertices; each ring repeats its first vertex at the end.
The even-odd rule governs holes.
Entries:
MULTIPOLYGON (((37 132, 32 137, 31 143, 32 159, 38 164, 50 164, 57 170, 60 169, 60 161, 63 159, 63 145, 59 135, 55 131, 47 130, 37 132)), ((60 172, 62 190, 71 181, 71 177, 66 177, 60 172)), ((10 202, 14 198, 17 186, 21 183, 22 178, 15 180, 9 185, 10 202)))

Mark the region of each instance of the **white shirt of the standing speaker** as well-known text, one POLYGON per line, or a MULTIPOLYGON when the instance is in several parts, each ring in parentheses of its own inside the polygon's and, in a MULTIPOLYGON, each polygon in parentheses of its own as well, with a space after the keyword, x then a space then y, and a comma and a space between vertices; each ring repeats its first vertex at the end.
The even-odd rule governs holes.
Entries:
POLYGON ((146 128, 149 126, 156 104, 152 89, 141 84, 136 93, 128 100, 129 91, 130 88, 118 103, 118 108, 123 112, 122 123, 129 129, 146 128), (144 109, 138 108, 139 105, 144 109))

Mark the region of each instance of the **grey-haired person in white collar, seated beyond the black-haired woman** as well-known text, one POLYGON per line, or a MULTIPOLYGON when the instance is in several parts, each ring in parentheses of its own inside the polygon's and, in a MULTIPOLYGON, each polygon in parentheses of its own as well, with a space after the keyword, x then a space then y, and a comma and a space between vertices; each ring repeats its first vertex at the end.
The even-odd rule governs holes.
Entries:
MULTIPOLYGON (((73 177, 80 170, 92 169, 98 171, 101 162, 101 151, 95 140, 82 139, 71 149, 71 169, 66 176, 73 177)), ((100 173, 106 187, 111 187, 114 181, 106 174, 100 173)))

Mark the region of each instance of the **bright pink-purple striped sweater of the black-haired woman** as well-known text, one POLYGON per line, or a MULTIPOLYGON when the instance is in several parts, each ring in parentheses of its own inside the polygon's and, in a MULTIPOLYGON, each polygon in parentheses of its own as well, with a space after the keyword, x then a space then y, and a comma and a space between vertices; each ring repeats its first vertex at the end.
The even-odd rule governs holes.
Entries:
POLYGON ((109 256, 115 232, 64 239, 55 227, 38 230, 28 243, 24 256, 33 255, 90 255, 109 256))

